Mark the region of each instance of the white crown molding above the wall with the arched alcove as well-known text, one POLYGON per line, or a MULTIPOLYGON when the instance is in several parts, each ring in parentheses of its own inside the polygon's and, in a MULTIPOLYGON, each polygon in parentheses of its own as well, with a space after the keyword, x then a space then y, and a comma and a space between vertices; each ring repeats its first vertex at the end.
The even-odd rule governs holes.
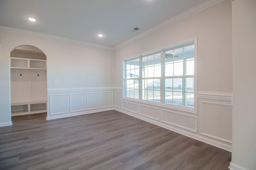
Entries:
POLYGON ((57 40, 57 41, 64 41, 64 42, 68 42, 68 43, 87 45, 87 46, 90 46, 90 47, 97 47, 97 48, 102 48, 102 49, 114 50, 114 48, 110 47, 110 46, 98 45, 98 44, 94 44, 94 43, 88 43, 86 41, 79 41, 79 40, 75 40, 75 39, 58 37, 58 36, 55 36, 55 35, 48 35, 48 34, 43 34, 43 33, 26 31, 26 30, 23 30, 23 29, 16 29, 16 28, 0 26, 0 31, 8 31, 8 32, 13 32, 13 33, 20 33, 20 34, 32 35, 32 36, 36 36, 36 37, 53 39, 53 40, 57 40))

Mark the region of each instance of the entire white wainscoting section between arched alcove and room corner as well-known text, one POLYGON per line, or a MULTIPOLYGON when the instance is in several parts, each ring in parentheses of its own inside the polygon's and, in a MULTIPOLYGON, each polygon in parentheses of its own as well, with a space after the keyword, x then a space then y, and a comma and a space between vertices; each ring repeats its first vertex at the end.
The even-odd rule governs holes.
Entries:
POLYGON ((48 90, 47 120, 114 109, 113 88, 48 90))

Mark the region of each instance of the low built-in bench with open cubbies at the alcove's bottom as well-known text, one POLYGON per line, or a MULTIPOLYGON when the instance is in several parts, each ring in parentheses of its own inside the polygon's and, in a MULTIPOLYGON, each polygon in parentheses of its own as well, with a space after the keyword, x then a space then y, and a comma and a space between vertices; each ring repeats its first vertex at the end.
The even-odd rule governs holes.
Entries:
POLYGON ((28 102, 27 104, 12 104, 12 116, 28 115, 46 112, 46 102, 28 102))

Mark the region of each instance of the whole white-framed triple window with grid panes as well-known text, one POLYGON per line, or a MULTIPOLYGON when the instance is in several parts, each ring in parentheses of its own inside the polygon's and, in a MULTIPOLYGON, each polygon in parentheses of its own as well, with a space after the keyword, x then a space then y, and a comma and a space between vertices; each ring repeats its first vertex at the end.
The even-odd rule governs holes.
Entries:
POLYGON ((124 61, 125 97, 194 107, 194 41, 124 61))

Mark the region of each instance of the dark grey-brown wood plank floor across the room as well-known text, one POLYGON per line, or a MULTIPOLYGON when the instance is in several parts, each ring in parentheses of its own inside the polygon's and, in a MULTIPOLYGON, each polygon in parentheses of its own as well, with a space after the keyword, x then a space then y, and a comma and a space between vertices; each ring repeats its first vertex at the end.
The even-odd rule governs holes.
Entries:
POLYGON ((231 161, 226 150, 114 110, 45 119, 15 116, 0 127, 1 170, 228 170, 231 161))

